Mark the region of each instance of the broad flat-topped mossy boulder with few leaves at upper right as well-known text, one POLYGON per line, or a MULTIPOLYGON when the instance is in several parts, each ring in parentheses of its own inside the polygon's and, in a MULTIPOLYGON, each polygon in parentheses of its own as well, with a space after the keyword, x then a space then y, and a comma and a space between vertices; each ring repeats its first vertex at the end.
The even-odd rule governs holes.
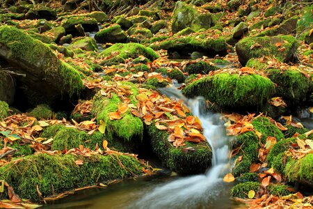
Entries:
POLYGON ((288 62, 294 58, 298 42, 293 36, 249 37, 236 44, 236 52, 242 65, 251 58, 275 56, 278 61, 288 62), (280 42, 280 47, 276 44, 280 42))

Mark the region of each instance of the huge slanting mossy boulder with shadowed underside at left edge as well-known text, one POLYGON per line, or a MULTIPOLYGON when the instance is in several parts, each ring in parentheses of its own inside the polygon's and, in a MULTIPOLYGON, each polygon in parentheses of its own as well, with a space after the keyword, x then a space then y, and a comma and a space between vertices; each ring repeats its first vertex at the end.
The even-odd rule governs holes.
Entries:
POLYGON ((47 45, 13 26, 0 27, 0 56, 26 75, 17 79, 33 104, 53 103, 83 89, 77 70, 60 61, 47 45))

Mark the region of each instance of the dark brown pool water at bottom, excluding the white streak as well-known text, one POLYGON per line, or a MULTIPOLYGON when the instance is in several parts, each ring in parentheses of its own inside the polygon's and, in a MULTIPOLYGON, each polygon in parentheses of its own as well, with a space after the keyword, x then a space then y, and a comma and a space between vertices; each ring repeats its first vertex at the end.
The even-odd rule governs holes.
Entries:
MULTIPOLYGON (((168 175, 159 175, 152 177, 137 178, 135 180, 125 180, 121 183, 109 185, 104 189, 85 189, 63 199, 48 202, 47 205, 41 208, 156 208, 149 202, 145 206, 139 206, 140 199, 149 194, 157 187, 161 187, 174 180, 183 177, 168 175)), ((166 208, 237 208, 239 203, 230 200, 231 184, 222 183, 217 185, 218 196, 201 196, 194 199, 193 206, 184 207, 177 203, 176 206, 166 208)), ((170 194, 167 194, 170 196, 170 194)), ((193 194, 190 194, 193 196, 193 194)), ((175 201, 175 199, 173 199, 175 201)))

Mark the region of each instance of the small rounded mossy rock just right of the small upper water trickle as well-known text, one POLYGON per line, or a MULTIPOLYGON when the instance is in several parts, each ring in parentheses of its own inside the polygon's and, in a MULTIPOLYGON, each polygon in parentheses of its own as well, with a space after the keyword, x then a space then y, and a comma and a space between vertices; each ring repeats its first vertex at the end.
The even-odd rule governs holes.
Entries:
POLYGON ((123 31, 119 24, 108 26, 95 34, 97 42, 126 42, 127 34, 123 31))

